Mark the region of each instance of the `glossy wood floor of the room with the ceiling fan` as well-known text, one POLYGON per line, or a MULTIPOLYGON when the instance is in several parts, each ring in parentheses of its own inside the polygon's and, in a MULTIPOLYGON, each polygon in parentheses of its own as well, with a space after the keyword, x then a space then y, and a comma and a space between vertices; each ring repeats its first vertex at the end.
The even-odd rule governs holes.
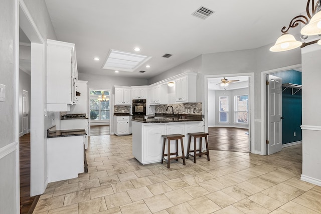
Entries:
POLYGON ((209 149, 220 151, 249 151, 248 129, 233 127, 209 127, 209 149))

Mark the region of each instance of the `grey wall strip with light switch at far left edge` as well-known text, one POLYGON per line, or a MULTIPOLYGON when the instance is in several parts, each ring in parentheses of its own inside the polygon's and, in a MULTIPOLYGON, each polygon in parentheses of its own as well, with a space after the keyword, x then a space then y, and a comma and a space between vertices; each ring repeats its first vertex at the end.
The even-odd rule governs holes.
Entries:
POLYGON ((6 85, 6 101, 0 102, 1 213, 19 213, 17 4, 17 0, 2 0, 0 7, 0 84, 6 85))

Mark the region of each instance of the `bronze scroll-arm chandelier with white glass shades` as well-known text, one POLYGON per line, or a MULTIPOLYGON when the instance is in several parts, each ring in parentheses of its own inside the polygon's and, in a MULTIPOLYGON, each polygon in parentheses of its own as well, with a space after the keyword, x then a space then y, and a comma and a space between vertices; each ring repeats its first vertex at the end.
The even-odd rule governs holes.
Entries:
POLYGON ((321 35, 321 0, 318 0, 316 4, 314 4, 314 0, 308 0, 306 3, 306 15, 307 17, 303 15, 296 16, 291 20, 287 28, 284 26, 281 30, 283 34, 276 40, 275 45, 270 48, 270 51, 288 51, 298 47, 303 48, 314 43, 321 45, 321 40, 302 43, 295 40, 293 35, 287 33, 290 28, 295 28, 299 25, 299 23, 302 23, 305 26, 300 32, 301 39, 305 40, 308 38, 308 36, 321 35))

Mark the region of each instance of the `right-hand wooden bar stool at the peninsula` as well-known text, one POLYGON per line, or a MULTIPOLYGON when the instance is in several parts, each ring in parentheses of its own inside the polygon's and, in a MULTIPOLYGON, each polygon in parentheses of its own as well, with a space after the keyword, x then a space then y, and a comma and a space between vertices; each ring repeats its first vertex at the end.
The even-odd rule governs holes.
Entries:
POLYGON ((205 154, 205 155, 207 155, 207 160, 210 160, 209 144, 207 141, 207 135, 209 135, 209 133, 195 132, 195 133, 188 133, 188 135, 189 135, 189 144, 187 146, 186 159, 189 159, 189 155, 191 155, 192 157, 194 157, 194 163, 196 163, 196 156, 199 155, 200 157, 202 157, 202 154, 205 154), (194 150, 190 150, 192 137, 194 137, 194 150), (206 152, 202 152, 202 138, 203 137, 205 137, 206 152), (196 149, 196 139, 197 138, 200 138, 199 149, 196 149), (197 151, 198 151, 198 153, 196 153, 197 151), (194 152, 194 155, 190 154, 190 152, 194 152))

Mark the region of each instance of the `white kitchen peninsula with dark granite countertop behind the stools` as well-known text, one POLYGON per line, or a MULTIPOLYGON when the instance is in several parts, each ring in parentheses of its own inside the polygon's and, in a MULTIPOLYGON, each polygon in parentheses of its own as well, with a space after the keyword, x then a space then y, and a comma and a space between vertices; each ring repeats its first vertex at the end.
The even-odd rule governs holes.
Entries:
MULTIPOLYGON (((191 132, 204 132, 202 115, 132 119, 132 154, 142 164, 161 162, 162 135, 183 134, 186 155, 187 134, 191 132)), ((180 148, 179 153, 182 154, 180 148)))

